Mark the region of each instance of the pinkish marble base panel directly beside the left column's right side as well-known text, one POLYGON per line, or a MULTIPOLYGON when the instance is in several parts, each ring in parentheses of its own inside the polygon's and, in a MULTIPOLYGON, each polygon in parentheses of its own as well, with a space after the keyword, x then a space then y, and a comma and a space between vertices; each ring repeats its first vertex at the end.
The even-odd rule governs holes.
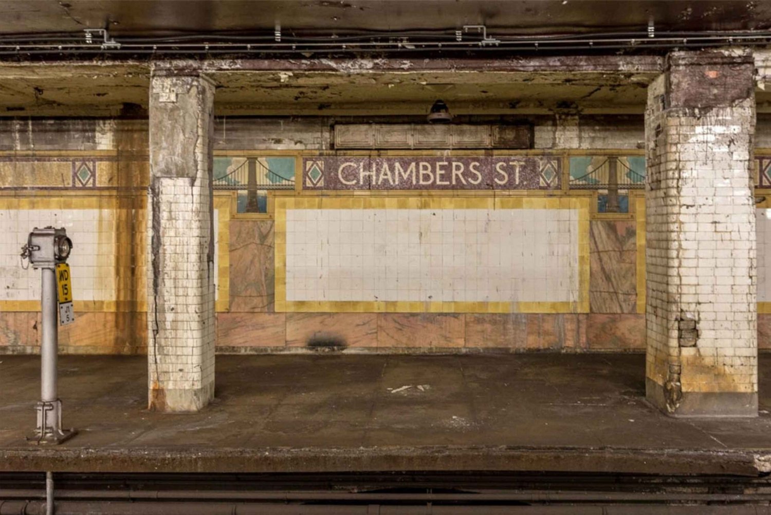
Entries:
POLYGON ((284 313, 218 313, 217 347, 284 347, 284 313))

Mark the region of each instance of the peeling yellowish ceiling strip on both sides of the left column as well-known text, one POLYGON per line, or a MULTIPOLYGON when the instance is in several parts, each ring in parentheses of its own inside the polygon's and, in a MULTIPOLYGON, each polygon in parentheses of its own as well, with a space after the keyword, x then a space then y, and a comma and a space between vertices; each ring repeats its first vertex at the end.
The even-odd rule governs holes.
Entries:
MULTIPOLYGON (((436 99, 454 114, 542 114, 561 107, 641 113, 656 73, 459 71, 219 71, 218 114, 427 114, 436 99)), ((0 66, 0 116, 109 116, 147 106, 149 70, 111 66, 0 66)))

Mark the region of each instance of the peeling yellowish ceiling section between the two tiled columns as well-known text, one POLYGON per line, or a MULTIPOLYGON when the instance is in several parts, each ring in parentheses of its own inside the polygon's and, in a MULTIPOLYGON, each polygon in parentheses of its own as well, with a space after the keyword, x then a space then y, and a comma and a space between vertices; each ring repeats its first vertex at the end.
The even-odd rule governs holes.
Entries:
MULTIPOLYGON (((630 74, 631 75, 631 74, 630 74)), ((217 110, 291 114, 427 114, 441 98, 456 114, 546 113, 580 105, 641 112, 651 77, 588 73, 218 73, 217 110), (255 92, 259 92, 255 94, 255 92)))

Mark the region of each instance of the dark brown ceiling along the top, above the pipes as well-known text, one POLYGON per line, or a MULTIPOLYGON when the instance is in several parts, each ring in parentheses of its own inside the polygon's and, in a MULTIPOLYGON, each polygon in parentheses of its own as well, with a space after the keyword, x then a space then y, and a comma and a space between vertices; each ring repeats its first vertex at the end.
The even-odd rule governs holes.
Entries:
POLYGON ((493 36, 767 29, 771 2, 758 0, 0 0, 0 34, 81 32, 116 36, 173 32, 284 33, 453 30, 487 25, 493 36))

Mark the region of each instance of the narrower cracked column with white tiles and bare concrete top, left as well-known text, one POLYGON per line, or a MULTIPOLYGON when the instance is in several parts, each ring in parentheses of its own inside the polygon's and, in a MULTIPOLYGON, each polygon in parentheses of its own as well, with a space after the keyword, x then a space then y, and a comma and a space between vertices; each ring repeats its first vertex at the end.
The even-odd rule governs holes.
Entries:
POLYGON ((147 360, 150 409, 214 397, 214 85, 197 73, 150 80, 147 360))

